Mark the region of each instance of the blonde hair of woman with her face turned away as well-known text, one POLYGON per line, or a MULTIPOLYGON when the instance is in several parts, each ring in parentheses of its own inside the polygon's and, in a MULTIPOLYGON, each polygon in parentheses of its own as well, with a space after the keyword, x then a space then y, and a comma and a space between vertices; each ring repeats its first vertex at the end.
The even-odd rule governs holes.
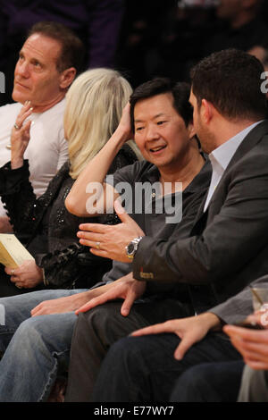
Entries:
MULTIPOLYGON (((132 88, 118 71, 93 69, 80 74, 66 95, 64 132, 68 140, 70 176, 80 172, 117 128, 132 88)), ((130 140, 130 147, 137 147, 130 140)))

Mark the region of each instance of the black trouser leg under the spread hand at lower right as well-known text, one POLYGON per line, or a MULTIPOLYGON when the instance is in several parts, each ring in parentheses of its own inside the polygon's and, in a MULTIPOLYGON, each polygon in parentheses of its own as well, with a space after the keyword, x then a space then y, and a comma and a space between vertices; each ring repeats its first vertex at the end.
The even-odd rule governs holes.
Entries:
POLYGON ((179 342, 174 334, 128 337, 118 341, 105 357, 91 400, 169 401, 180 374, 190 367, 240 359, 239 352, 222 333, 209 333, 180 361, 173 357, 179 342))

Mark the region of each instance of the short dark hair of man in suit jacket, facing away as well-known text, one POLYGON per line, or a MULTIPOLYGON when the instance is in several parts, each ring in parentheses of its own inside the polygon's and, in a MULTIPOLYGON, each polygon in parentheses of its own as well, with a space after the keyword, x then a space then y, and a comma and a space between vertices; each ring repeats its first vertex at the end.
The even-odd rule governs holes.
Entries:
POLYGON ((205 57, 190 71, 197 106, 206 99, 230 120, 264 119, 263 72, 264 66, 255 56, 234 48, 205 57))

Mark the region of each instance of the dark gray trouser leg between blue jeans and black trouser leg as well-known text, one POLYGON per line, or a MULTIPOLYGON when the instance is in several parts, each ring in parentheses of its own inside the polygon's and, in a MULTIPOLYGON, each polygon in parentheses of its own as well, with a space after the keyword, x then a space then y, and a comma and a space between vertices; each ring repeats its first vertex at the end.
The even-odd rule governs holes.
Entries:
POLYGON ((121 315, 121 304, 109 302, 79 315, 71 340, 66 402, 90 401, 97 374, 114 342, 138 328, 193 315, 187 305, 171 298, 135 303, 127 317, 121 315))

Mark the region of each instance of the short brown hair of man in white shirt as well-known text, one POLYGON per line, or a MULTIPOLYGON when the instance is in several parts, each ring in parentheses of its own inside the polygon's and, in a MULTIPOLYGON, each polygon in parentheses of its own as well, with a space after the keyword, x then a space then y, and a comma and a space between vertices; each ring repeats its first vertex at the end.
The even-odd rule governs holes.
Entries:
POLYGON ((39 21, 29 30, 27 38, 36 33, 58 41, 62 45, 61 55, 57 59, 56 68, 61 72, 74 67, 77 72, 83 70, 84 45, 71 29, 56 21, 39 21))

